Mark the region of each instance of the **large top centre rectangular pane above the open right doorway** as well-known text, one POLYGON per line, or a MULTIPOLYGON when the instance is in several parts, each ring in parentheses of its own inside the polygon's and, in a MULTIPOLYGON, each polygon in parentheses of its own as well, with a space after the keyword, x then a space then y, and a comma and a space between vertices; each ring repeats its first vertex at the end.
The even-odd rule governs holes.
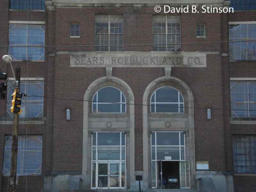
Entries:
POLYGON ((179 132, 156 132, 156 145, 180 145, 179 132))

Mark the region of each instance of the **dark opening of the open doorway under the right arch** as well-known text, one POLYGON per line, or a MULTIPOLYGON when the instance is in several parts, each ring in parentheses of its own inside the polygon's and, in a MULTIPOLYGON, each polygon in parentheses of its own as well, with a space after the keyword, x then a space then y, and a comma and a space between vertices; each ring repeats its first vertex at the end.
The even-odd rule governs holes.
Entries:
POLYGON ((179 161, 158 161, 157 172, 158 188, 180 188, 179 161))

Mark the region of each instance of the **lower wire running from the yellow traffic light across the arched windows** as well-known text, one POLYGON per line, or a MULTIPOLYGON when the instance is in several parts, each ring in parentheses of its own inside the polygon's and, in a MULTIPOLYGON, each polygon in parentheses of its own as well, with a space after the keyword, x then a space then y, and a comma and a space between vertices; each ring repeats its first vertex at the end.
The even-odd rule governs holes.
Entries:
MULTIPOLYGON (((26 95, 23 93, 25 97, 40 97, 46 99, 56 99, 56 100, 70 100, 70 101, 86 101, 86 102, 93 102, 92 100, 80 100, 80 99, 66 99, 66 98, 57 98, 57 97, 45 97, 45 96, 38 96, 38 95, 26 95)), ((98 101, 97 103, 109 103, 109 104, 121 104, 116 102, 106 102, 106 101, 98 101)), ((157 105, 147 105, 147 104, 137 104, 137 103, 125 103, 126 105, 135 105, 135 106, 156 106, 156 107, 172 107, 172 108, 192 108, 192 109, 209 109, 209 108, 200 108, 200 107, 175 107, 175 106, 157 106, 157 105)), ((246 109, 230 109, 230 108, 210 108, 213 110, 236 110, 236 111, 256 111, 256 110, 246 110, 246 109)))

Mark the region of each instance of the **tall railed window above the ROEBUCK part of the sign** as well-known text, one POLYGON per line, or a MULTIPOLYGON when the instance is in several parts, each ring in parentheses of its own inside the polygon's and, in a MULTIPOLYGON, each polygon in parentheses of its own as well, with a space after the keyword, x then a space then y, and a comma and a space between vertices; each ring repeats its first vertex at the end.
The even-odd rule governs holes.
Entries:
POLYGON ((97 15, 95 16, 95 45, 96 51, 123 50, 123 16, 97 15), (108 45, 108 46, 102 46, 108 45), (120 46, 111 46, 120 45, 120 46))

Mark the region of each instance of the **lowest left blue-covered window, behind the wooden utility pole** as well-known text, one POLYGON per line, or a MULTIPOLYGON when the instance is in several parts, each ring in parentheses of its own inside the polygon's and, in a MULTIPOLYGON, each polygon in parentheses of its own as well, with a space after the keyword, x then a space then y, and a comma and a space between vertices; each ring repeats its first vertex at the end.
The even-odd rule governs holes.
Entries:
MULTIPOLYGON (((43 138, 40 135, 18 137, 17 175, 41 175, 43 138)), ((3 174, 10 175, 12 136, 5 136, 3 174)))

